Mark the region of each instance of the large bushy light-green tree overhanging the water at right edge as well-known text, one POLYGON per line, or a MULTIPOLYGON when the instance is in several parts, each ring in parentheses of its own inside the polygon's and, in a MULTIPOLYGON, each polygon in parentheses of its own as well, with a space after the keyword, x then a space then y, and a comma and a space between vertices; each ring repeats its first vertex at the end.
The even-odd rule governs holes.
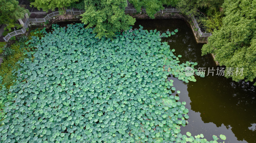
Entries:
POLYGON ((202 54, 215 54, 215 60, 228 69, 235 68, 233 70, 236 71, 236 68, 244 68, 243 75, 225 75, 234 81, 245 79, 253 82, 256 77, 255 6, 255 0, 226 0, 223 4, 226 15, 222 19, 223 24, 202 48, 202 54))

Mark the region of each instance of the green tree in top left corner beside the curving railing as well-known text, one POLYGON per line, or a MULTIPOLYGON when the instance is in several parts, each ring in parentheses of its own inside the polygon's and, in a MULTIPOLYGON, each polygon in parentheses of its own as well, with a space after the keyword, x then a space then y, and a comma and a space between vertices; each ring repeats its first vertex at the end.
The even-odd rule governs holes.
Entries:
POLYGON ((5 30, 11 31, 12 27, 20 27, 17 24, 18 19, 24 18, 25 14, 29 11, 20 7, 19 2, 16 0, 0 0, 0 24, 6 24, 5 30))

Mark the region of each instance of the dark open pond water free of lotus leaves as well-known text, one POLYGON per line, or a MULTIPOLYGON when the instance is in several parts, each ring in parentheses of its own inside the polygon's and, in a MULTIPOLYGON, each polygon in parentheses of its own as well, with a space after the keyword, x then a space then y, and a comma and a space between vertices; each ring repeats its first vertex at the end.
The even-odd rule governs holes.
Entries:
MULTIPOLYGON (((196 40, 189 25, 179 19, 137 20, 134 28, 142 25, 147 30, 160 32, 174 31, 176 35, 164 39, 177 55, 182 55, 181 62, 197 62, 196 68, 214 67, 210 55, 201 56, 202 44, 196 40)), ((225 143, 256 142, 256 91, 250 82, 233 82, 224 76, 216 75, 196 77, 196 82, 185 83, 174 80, 176 90, 180 90, 180 101, 186 101, 189 109, 188 125, 181 127, 181 133, 191 132, 193 136, 203 133, 207 140, 212 135, 226 135, 225 143)))

